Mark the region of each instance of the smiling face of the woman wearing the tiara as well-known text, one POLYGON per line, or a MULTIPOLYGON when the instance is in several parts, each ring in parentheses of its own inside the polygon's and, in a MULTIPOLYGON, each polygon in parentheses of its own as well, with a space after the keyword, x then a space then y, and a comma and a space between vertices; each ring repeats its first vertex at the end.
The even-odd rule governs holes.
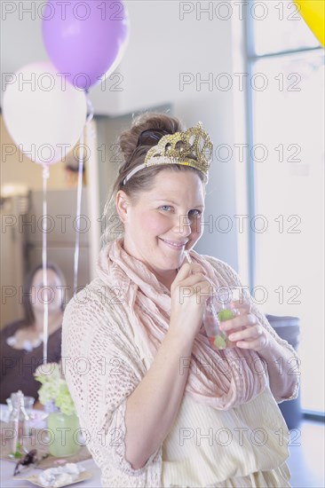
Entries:
POLYGON ((170 271, 183 264, 184 251, 202 236, 204 185, 192 171, 166 169, 135 206, 122 191, 116 205, 124 221, 124 249, 146 263, 158 279, 168 280, 170 271))

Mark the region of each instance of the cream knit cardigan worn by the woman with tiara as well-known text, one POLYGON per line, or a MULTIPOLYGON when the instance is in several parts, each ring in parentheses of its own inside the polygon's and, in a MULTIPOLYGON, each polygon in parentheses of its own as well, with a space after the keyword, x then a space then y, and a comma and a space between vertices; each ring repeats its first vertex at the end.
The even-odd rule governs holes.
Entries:
MULTIPOLYGON (((214 257, 202 256, 229 286, 242 286, 234 270, 214 257)), ((263 313, 253 305, 260 323, 292 357, 295 350, 281 340, 263 313)), ((75 401, 87 447, 102 471, 105 487, 159 487, 162 474, 162 445, 143 468, 133 469, 125 459, 126 399, 147 370, 133 341, 132 324, 115 293, 99 278, 93 279, 68 304, 63 319, 62 365, 75 401)), ((294 391, 278 402, 297 397, 294 391)))

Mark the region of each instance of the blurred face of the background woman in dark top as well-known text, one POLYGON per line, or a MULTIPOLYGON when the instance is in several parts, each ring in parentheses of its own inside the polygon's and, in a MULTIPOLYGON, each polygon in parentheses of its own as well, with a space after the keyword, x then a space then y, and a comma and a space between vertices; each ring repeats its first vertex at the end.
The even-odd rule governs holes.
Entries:
POLYGON ((64 290, 59 276, 52 269, 47 270, 47 287, 43 285, 43 270, 38 270, 32 281, 31 303, 35 311, 44 311, 44 303, 49 305, 49 313, 61 308, 64 290))

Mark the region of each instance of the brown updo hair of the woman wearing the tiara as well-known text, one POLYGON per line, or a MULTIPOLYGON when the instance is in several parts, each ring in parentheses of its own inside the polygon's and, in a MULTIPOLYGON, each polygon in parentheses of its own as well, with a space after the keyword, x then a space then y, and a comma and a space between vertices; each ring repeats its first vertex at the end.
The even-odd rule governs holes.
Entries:
MULTIPOLYGON (((182 166, 180 164, 170 164, 161 166, 153 166, 142 169, 133 175, 125 185, 123 180, 132 169, 135 169, 140 164, 143 164, 147 155, 147 151, 155 146, 157 143, 153 142, 150 146, 139 146, 139 135, 144 130, 166 130, 170 134, 175 132, 185 131, 185 127, 176 117, 167 114, 146 113, 141 114, 134 119, 131 129, 125 130, 118 138, 118 145, 123 154, 123 162, 118 170, 115 183, 107 195, 107 201, 104 208, 103 218, 104 232, 101 236, 101 244, 105 245, 107 242, 123 237, 124 226, 116 211, 116 193, 123 190, 131 200, 132 205, 136 205, 139 199, 139 194, 148 192, 155 185, 155 177, 161 171, 193 171, 200 177, 202 184, 205 186, 204 177, 198 169, 190 166, 182 166)), ((162 136, 163 137, 163 136, 162 136)))

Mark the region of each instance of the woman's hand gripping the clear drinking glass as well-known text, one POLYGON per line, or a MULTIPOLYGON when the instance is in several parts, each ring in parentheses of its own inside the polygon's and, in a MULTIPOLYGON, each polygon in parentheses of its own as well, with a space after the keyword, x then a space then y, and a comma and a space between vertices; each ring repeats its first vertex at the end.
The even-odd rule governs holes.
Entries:
POLYGON ((233 302, 233 304, 234 310, 237 311, 236 317, 221 322, 220 329, 226 332, 229 341, 235 342, 236 347, 256 351, 265 350, 271 336, 258 322, 256 315, 250 313, 250 304, 240 302, 233 302))

